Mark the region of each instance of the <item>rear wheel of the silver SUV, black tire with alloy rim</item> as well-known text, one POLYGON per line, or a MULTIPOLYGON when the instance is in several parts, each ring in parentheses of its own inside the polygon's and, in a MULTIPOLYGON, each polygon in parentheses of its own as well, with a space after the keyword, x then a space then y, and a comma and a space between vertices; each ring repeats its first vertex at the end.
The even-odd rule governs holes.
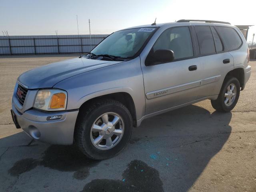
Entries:
POLYGON ((220 94, 218 95, 218 98, 216 100, 211 100, 212 107, 219 112, 230 112, 236 106, 239 95, 240 95, 240 83, 238 79, 235 77, 226 78, 222 84, 222 88, 220 90, 220 94), (230 96, 227 96, 227 97, 225 96, 225 94, 228 94, 227 93, 228 87, 231 90, 232 86, 234 86, 234 90, 236 90, 236 93, 234 93, 234 96, 235 96, 234 99, 233 99, 233 96, 231 99, 230 99, 230 96), (227 99, 228 99, 228 102, 225 103, 227 99))

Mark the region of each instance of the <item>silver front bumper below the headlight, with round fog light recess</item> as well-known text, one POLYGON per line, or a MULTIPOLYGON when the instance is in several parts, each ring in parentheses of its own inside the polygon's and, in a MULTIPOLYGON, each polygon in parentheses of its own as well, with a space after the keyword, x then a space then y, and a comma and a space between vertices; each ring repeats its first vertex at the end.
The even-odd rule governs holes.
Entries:
POLYGON ((78 110, 43 112, 35 109, 19 112, 14 103, 12 110, 20 127, 35 140, 50 144, 71 145, 78 110), (48 116, 62 115, 60 120, 47 121, 48 116))

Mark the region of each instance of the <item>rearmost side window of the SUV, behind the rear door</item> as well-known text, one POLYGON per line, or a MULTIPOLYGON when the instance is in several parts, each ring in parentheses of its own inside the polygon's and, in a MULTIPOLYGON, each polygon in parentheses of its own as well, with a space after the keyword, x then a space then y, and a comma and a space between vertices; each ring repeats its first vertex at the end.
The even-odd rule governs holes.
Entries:
POLYGON ((235 50, 242 44, 242 40, 237 32, 230 27, 217 27, 218 32, 224 42, 227 51, 235 50))

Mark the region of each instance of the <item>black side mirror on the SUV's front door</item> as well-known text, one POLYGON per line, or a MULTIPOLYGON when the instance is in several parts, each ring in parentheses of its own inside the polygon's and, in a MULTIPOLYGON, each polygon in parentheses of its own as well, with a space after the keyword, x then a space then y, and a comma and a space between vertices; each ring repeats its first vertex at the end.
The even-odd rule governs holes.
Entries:
POLYGON ((168 63, 174 60, 174 52, 168 49, 158 49, 153 54, 154 62, 168 63))

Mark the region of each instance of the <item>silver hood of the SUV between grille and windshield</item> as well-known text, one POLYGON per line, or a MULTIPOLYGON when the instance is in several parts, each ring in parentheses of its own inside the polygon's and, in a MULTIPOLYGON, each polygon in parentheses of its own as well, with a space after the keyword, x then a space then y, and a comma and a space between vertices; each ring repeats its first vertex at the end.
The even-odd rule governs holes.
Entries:
POLYGON ((18 81, 26 85, 29 89, 50 88, 71 76, 120 62, 94 60, 88 59, 87 57, 73 58, 27 71, 18 77, 18 81))

